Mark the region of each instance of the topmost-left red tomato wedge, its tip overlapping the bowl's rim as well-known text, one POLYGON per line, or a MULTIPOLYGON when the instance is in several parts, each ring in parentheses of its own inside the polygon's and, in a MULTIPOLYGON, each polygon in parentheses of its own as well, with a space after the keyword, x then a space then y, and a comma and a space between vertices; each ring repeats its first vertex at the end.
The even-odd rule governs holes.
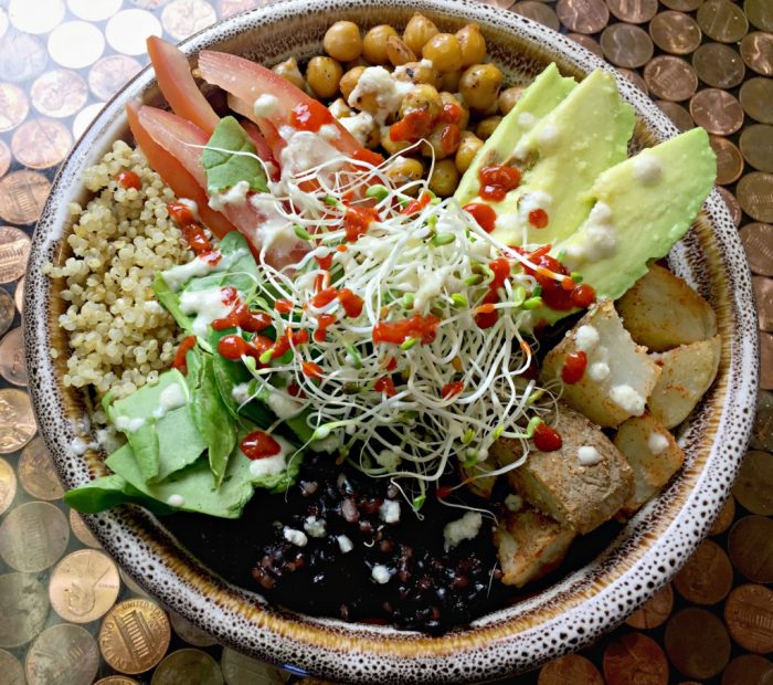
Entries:
POLYGON ((156 35, 148 38, 147 45, 158 85, 174 114, 212 135, 220 117, 193 80, 188 57, 156 35))

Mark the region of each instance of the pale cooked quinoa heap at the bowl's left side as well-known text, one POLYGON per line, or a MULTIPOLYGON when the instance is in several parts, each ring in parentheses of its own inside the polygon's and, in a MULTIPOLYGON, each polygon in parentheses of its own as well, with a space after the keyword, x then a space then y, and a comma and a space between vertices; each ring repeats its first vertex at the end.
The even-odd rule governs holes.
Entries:
POLYGON ((140 150, 115 143, 86 169, 84 183, 94 197, 85 209, 68 208, 73 256, 47 273, 66 280, 62 298, 70 306, 60 325, 70 331, 72 352, 64 383, 92 386, 99 400, 108 390, 124 397, 156 381, 172 362, 182 334, 151 285, 160 271, 193 255, 167 211, 174 194, 140 150), (119 186, 121 170, 137 173, 141 189, 119 186))

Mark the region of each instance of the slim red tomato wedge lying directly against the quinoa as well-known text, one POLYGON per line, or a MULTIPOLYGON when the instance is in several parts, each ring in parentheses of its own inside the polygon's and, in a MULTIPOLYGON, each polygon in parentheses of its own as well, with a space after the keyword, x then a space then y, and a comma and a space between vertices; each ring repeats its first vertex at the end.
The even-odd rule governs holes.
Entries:
POLYGON ((222 238, 230 231, 236 230, 223 214, 214 211, 208 204, 207 192, 203 187, 186 167, 167 149, 156 143, 148 130, 139 120, 139 105, 129 103, 126 106, 126 117, 135 141, 145 152, 148 162, 166 183, 174 191, 178 198, 189 198, 199 207, 199 215, 208 229, 218 238, 222 238))

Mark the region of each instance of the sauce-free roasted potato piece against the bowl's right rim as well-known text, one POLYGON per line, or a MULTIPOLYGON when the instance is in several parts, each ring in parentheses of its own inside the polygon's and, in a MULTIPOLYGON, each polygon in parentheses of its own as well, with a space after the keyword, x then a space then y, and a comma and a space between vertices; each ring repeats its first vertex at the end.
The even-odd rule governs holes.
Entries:
POLYGON ((713 382, 720 352, 720 338, 714 336, 710 340, 650 355, 661 369, 647 402, 653 417, 668 429, 687 419, 713 382))

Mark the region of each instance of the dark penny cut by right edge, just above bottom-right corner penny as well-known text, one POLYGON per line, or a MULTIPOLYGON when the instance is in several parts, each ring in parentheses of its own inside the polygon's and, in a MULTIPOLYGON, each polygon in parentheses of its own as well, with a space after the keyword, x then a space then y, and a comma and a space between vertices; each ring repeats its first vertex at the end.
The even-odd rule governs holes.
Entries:
POLYGON ((724 622, 744 650, 773 651, 773 590, 756 584, 734 588, 724 603, 724 622))

